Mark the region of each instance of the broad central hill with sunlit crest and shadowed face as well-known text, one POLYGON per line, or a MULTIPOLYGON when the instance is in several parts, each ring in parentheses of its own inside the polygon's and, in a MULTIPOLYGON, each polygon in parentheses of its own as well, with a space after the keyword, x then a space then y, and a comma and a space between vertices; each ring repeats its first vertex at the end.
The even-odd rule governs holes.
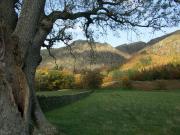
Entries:
MULTIPOLYGON (((52 49, 52 54, 57 59, 57 65, 63 68, 68 68, 70 70, 74 69, 84 69, 84 68, 101 68, 101 67, 112 67, 118 66, 125 60, 130 58, 130 55, 124 53, 116 48, 113 48, 107 43, 94 43, 91 46, 87 41, 78 40, 71 44, 72 54, 68 47, 62 47, 58 49, 52 49), (92 54, 94 57, 92 58, 92 54), (91 63, 91 64, 90 64, 91 63)), ((40 65, 41 67, 53 68, 55 67, 55 62, 52 57, 49 56, 47 50, 42 50, 41 53, 43 61, 40 65)))

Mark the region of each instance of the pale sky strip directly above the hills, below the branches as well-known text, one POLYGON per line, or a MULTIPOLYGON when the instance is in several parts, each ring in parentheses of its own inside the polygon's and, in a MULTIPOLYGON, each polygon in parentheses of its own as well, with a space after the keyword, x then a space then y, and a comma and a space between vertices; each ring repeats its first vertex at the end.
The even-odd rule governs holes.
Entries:
MULTIPOLYGON (((129 44, 137 41, 143 41, 143 42, 148 42, 153 38, 163 36, 165 34, 169 34, 171 32, 174 32, 176 30, 180 30, 179 27, 171 27, 171 28, 164 28, 161 31, 155 31, 153 32, 151 29, 148 28, 138 28, 138 34, 133 32, 133 31, 112 31, 112 30, 107 30, 107 33, 102 35, 99 34, 100 32, 98 29, 95 29, 95 36, 94 39, 96 42, 101 42, 101 43, 108 43, 112 45, 113 47, 116 47, 118 45, 122 44, 129 44)), ((81 28, 77 27, 74 30, 72 30, 73 34, 73 41, 75 40, 86 40, 83 31, 81 28)), ((64 46, 62 43, 57 43, 55 45, 56 47, 62 47, 64 46)))

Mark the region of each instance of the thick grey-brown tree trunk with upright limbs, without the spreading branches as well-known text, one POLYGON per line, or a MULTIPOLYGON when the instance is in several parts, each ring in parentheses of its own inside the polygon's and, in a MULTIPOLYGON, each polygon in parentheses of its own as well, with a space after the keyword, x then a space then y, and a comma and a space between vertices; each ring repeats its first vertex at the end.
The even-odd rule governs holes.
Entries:
POLYGON ((53 135, 56 128, 46 120, 34 86, 40 48, 53 24, 44 27, 47 20, 41 20, 45 0, 23 0, 19 18, 15 2, 0 0, 0 135, 53 135))

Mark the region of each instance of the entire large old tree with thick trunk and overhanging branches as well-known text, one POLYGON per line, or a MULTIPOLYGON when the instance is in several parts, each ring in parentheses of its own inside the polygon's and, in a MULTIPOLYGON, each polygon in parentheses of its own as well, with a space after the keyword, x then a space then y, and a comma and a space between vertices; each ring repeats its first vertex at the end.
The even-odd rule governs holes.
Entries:
POLYGON ((98 28, 161 29, 180 22, 178 0, 0 0, 0 134, 51 135, 35 96, 41 47, 67 43, 81 25, 87 38, 98 28))

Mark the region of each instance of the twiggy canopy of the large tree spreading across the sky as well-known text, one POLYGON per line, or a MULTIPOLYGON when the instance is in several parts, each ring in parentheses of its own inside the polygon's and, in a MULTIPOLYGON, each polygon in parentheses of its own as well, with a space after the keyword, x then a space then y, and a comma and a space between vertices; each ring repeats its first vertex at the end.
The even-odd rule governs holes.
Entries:
MULTIPOLYGON (((22 1, 17 1, 19 16, 21 7, 22 1)), ((67 44, 72 40, 68 29, 77 26, 84 30, 87 38, 92 38, 92 26, 104 33, 107 28, 135 30, 137 27, 150 27, 160 30, 177 26, 179 16, 178 0, 46 0, 39 24, 48 33, 43 46, 51 47, 56 41, 67 44)))

